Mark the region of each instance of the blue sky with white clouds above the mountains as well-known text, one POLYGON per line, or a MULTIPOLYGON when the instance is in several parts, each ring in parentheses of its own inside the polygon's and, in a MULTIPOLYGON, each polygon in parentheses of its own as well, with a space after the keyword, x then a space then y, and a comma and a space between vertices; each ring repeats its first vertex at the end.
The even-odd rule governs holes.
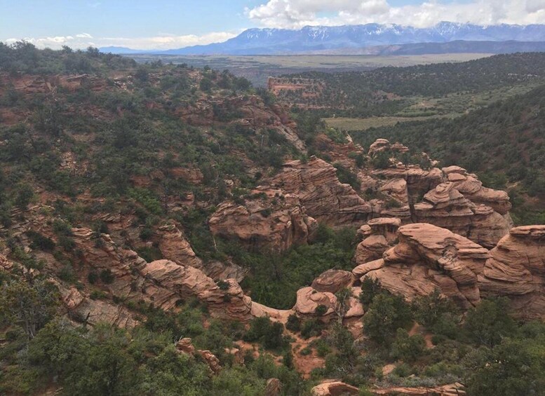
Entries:
POLYGON ((155 50, 225 41, 250 27, 443 20, 545 23, 545 0, 0 0, 0 41, 155 50))

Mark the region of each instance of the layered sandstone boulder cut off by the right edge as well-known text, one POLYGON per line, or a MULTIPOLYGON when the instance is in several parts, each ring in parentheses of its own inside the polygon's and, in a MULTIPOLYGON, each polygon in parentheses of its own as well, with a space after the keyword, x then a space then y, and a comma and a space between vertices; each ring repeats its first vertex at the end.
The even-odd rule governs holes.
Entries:
POLYGON ((545 226, 511 228, 490 251, 480 290, 509 296, 513 314, 545 318, 545 226))

